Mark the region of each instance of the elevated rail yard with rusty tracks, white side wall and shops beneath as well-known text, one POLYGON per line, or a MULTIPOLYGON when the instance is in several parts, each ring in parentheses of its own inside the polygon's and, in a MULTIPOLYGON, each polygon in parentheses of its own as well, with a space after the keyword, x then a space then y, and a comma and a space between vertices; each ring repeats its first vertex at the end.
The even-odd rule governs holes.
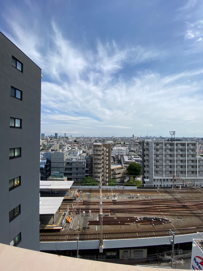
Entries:
POLYGON ((102 231, 100 190, 83 186, 78 192, 75 201, 63 201, 62 209, 69 208, 72 218, 63 232, 40 232, 41 251, 74 257, 78 250, 86 259, 126 263, 146 262, 152 260, 150 255, 159 254, 162 261, 169 261, 171 231, 178 259, 191 253, 192 240, 203 232, 201 188, 103 187, 102 231))

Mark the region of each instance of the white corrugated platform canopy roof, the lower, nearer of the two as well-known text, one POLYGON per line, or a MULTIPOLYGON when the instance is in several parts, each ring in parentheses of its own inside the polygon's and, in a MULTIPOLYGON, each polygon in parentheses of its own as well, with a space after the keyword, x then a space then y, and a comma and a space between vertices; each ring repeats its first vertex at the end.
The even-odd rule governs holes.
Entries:
POLYGON ((54 215, 62 201, 63 197, 40 197, 40 215, 54 215))

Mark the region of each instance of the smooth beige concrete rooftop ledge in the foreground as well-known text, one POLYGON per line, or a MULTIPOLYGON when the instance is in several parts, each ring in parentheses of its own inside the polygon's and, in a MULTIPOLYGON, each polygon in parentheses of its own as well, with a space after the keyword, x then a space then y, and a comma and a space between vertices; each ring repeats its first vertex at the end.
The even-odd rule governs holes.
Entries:
POLYGON ((48 254, 18 247, 0 244, 1 270, 13 271, 45 271, 45 270, 67 270, 78 269, 83 271, 94 271, 96 269, 105 271, 156 271, 164 270, 156 267, 141 267, 114 263, 96 262, 72 257, 48 254))

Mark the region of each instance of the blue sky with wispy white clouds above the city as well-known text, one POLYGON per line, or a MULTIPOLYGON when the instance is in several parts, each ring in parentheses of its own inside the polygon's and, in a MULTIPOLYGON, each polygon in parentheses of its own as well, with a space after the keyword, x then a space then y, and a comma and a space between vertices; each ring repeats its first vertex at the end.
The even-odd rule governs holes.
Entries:
POLYGON ((203 137, 202 0, 7 0, 42 69, 41 133, 203 137))

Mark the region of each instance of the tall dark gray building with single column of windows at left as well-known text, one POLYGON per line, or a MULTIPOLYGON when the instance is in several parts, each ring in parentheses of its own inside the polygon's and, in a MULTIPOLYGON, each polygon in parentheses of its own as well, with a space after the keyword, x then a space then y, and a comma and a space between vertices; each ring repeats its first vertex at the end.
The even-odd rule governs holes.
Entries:
POLYGON ((41 69, 0 33, 0 243, 39 250, 41 69))

